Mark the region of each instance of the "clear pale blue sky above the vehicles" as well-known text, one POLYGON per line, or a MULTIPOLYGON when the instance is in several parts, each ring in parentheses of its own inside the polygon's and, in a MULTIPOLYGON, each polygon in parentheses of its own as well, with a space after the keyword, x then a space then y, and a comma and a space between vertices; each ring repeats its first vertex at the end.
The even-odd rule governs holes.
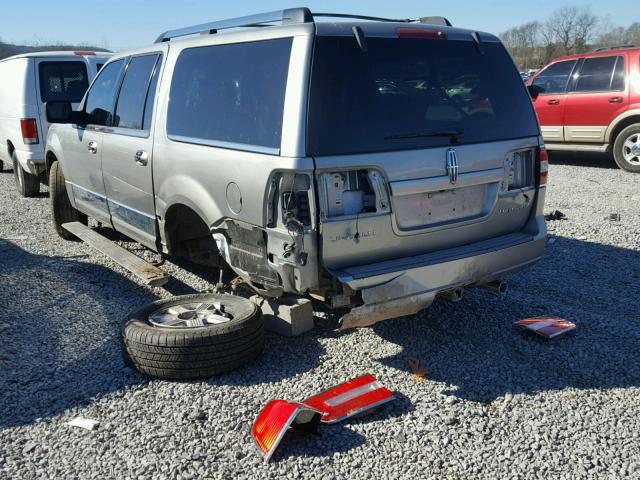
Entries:
POLYGON ((608 15, 614 25, 640 21, 637 0, 586 2, 568 0, 473 0, 429 2, 419 0, 109 0, 88 2, 32 0, 3 1, 0 39, 16 43, 89 43, 113 50, 143 46, 171 28, 220 18, 307 6, 318 12, 349 12, 390 17, 444 15, 454 25, 500 33, 511 26, 544 19, 562 5, 591 6, 593 13, 608 15), (630 14, 632 13, 632 14, 630 14))

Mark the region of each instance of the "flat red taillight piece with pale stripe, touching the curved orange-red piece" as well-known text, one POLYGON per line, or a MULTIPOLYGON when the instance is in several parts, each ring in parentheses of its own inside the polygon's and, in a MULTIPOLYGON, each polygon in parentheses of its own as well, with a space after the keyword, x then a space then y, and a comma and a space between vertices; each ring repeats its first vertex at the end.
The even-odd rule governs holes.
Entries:
POLYGON ((371 374, 362 375, 306 399, 303 403, 323 412, 323 423, 335 423, 395 399, 371 374))

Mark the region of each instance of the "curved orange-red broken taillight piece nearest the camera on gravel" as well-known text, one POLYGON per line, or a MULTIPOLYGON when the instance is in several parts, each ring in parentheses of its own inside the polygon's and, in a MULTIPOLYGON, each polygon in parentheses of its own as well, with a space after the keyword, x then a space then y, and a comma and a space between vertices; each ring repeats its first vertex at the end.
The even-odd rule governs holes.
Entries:
POLYGON ((268 462, 276 447, 295 421, 299 424, 310 423, 321 415, 306 405, 286 400, 272 400, 262 409, 253 422, 251 434, 258 448, 268 462))

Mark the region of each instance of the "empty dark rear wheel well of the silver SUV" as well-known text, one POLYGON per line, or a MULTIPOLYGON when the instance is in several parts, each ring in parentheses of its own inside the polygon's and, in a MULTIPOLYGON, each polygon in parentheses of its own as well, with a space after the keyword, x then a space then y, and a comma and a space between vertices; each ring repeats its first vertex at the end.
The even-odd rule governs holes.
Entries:
POLYGON ((164 218, 169 255, 206 266, 221 266, 222 259, 206 222, 186 205, 172 205, 164 218))

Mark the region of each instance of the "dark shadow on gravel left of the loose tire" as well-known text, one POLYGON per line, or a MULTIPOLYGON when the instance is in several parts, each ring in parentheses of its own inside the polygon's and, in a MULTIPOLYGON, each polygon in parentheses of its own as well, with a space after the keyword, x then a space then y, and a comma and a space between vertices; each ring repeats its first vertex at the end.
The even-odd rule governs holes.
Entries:
POLYGON ((0 428, 145 381, 120 353, 121 321, 152 300, 145 289, 108 268, 2 239, 0 284, 0 428))

